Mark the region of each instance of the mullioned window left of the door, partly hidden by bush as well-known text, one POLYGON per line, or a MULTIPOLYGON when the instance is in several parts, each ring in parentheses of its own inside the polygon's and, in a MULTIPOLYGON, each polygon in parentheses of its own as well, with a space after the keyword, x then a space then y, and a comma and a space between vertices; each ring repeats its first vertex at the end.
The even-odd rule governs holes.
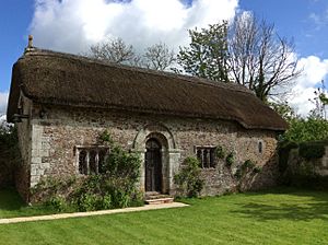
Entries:
POLYGON ((105 145, 77 147, 79 174, 101 173, 101 165, 105 161, 107 153, 108 147, 105 145))

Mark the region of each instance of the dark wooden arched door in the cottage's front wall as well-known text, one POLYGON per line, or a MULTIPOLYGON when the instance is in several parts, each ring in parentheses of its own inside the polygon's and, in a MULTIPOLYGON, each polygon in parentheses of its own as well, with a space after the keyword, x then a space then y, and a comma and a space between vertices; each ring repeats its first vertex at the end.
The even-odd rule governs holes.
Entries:
POLYGON ((145 142, 145 191, 162 192, 162 145, 151 138, 145 142))

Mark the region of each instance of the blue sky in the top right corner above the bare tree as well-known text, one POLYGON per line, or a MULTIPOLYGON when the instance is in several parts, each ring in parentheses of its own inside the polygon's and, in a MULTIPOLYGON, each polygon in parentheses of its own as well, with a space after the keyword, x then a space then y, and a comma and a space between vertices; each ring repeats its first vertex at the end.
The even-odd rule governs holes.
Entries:
POLYGON ((328 57, 327 0, 242 0, 244 10, 274 23, 281 36, 294 38, 297 54, 328 57))

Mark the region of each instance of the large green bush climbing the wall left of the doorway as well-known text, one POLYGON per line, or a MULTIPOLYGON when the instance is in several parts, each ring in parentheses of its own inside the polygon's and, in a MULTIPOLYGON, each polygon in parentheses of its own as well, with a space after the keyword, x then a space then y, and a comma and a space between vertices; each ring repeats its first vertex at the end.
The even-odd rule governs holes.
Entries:
POLYGON ((101 166, 99 175, 91 175, 73 194, 73 203, 80 211, 125 208, 141 203, 136 187, 139 182, 140 159, 118 145, 113 145, 101 166))

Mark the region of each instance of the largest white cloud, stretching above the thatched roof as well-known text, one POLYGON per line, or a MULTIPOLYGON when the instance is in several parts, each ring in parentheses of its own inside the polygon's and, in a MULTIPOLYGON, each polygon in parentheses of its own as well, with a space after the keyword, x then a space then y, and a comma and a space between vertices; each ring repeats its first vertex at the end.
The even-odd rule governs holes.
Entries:
POLYGON ((187 30, 231 19, 238 0, 36 0, 30 32, 36 46, 67 52, 121 37, 143 49, 164 42, 173 48, 188 43, 187 30))

